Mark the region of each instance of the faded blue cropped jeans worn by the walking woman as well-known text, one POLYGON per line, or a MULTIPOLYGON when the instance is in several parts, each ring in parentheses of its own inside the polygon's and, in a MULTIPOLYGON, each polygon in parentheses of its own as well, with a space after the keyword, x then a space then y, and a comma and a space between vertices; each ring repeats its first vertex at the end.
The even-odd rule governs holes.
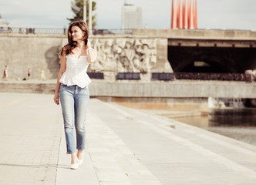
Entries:
POLYGON ((84 150, 86 143, 86 109, 89 103, 89 89, 62 84, 59 89, 62 106, 67 153, 84 150), (76 128, 76 143, 74 137, 76 128))

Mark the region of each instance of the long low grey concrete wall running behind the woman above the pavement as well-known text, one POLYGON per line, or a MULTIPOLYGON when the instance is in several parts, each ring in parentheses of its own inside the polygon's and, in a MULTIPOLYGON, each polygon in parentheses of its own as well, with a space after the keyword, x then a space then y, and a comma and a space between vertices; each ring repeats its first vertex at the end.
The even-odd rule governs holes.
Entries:
MULTIPOLYGON (((0 82, 0 92, 52 93, 56 82, 0 82)), ((90 96, 123 98, 256 98, 256 83, 177 80, 172 82, 104 82, 93 80, 90 96)))

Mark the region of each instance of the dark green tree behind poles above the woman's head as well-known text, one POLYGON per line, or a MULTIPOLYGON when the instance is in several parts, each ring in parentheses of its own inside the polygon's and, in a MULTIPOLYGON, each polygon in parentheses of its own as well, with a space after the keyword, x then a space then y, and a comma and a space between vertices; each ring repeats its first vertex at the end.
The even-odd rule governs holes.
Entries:
MULTIPOLYGON (((72 12, 75 14, 73 18, 67 18, 69 20, 69 24, 71 22, 74 22, 76 20, 83 20, 83 2, 84 0, 74 0, 74 2, 71 2, 71 9, 72 12)), ((86 1, 86 24, 89 24, 89 1, 86 1)), ((92 8, 92 26, 93 29, 97 25, 96 23, 96 14, 93 15, 93 11, 96 10, 96 2, 92 2, 93 8, 92 8)))

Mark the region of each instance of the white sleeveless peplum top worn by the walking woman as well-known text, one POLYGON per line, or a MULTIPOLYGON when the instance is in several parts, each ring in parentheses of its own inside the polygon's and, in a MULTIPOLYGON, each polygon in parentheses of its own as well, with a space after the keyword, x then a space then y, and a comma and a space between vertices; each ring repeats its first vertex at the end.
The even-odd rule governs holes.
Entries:
POLYGON ((92 82, 86 73, 88 66, 86 55, 81 55, 79 58, 78 55, 66 55, 66 71, 62 74, 59 82, 67 86, 76 85, 81 88, 88 86, 92 82))

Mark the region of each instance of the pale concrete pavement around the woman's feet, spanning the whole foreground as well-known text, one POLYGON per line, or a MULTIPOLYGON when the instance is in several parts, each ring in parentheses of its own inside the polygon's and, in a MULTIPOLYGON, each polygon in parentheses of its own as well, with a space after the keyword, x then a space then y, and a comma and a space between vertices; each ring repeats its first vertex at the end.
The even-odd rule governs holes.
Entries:
POLYGON ((69 170, 52 95, 0 93, 0 184, 256 184, 256 147, 90 99, 86 156, 69 170))

